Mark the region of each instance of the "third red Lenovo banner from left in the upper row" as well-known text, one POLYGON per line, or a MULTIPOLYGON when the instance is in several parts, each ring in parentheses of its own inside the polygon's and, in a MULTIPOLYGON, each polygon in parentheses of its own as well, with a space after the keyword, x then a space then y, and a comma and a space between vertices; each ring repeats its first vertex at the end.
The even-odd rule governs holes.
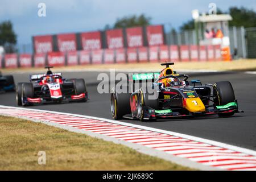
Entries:
POLYGON ((95 50, 101 49, 101 32, 84 32, 81 33, 82 49, 95 50))

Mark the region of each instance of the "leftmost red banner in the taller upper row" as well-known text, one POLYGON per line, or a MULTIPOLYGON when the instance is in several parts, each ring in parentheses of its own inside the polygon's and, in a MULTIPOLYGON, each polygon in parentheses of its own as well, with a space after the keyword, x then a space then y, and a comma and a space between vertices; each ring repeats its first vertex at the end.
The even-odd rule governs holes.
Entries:
POLYGON ((52 36, 34 36, 35 53, 47 53, 53 51, 52 36))

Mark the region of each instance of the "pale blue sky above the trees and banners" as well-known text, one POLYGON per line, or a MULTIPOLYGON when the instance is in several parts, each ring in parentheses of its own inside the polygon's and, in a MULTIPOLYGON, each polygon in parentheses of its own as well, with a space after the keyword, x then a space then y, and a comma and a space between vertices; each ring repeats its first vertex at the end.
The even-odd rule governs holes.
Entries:
POLYGON ((166 30, 179 28, 191 19, 191 10, 208 12, 209 3, 221 10, 245 6, 256 10, 251 0, 1 0, 0 22, 11 20, 18 35, 18 44, 30 44, 31 36, 102 30, 117 18, 142 14, 151 16, 152 24, 164 24, 166 30), (38 16, 38 3, 46 3, 46 17, 38 16))

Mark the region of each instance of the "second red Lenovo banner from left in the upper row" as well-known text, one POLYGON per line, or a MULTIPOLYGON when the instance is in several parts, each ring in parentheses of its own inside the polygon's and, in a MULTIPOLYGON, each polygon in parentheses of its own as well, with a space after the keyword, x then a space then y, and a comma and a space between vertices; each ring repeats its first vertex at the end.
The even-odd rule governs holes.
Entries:
POLYGON ((59 34, 57 42, 60 52, 76 51, 76 34, 59 34))

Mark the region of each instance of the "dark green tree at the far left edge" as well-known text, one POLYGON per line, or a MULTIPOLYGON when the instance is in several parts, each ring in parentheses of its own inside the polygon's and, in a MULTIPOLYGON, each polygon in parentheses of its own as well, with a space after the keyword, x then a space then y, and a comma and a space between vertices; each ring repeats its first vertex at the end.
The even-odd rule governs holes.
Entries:
POLYGON ((16 51, 16 37, 17 36, 13 30, 13 24, 9 20, 0 23, 0 46, 3 46, 7 53, 16 51))

